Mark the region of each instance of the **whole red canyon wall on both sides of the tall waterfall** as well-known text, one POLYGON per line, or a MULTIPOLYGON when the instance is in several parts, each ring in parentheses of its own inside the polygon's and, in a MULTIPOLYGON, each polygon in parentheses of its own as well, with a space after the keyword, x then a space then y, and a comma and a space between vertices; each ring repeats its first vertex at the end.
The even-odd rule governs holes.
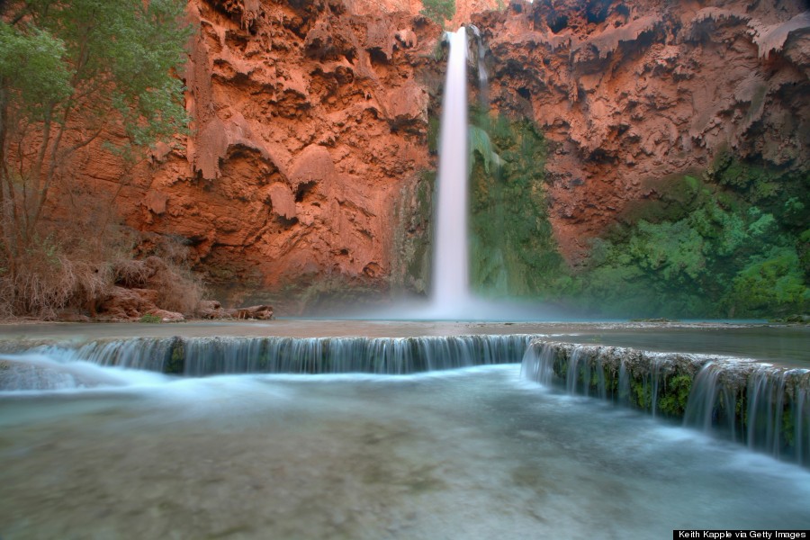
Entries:
MULTIPOLYGON (((545 137, 536 189, 566 264, 671 175, 724 153, 806 166, 805 3, 498 4, 457 2, 448 27, 482 31, 491 112, 545 137)), ((226 303, 424 293, 444 59, 420 9, 190 0, 199 31, 178 74, 190 134, 125 174, 88 148, 76 172, 114 193, 131 227, 191 247, 226 303)))

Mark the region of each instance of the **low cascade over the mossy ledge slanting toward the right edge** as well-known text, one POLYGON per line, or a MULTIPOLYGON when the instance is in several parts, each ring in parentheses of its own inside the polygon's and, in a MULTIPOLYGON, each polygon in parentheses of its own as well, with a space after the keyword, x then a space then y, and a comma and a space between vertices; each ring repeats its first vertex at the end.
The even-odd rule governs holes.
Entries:
POLYGON ((723 356, 533 341, 521 376, 810 466, 810 370, 723 356))

